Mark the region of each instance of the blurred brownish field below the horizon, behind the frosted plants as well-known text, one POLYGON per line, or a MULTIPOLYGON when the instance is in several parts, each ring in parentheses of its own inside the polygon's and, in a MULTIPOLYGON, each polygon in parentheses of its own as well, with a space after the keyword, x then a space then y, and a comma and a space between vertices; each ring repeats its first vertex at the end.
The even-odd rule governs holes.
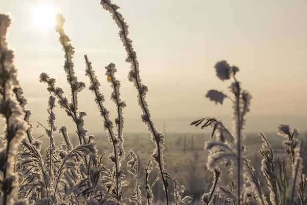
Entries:
MULTIPOLYGON (((200 197, 203 193, 209 192, 213 174, 207 170, 207 156, 209 154, 208 151, 204 150, 204 144, 206 140, 210 139, 211 133, 208 132, 209 129, 204 130, 204 133, 166 133, 166 141, 165 141, 165 150, 164 150, 164 160, 165 160, 165 168, 171 173, 173 177, 184 185, 186 188, 185 195, 193 196, 192 204, 202 204, 200 202, 200 197), (207 132, 205 132, 207 131, 207 132)), ((36 133, 39 135, 40 128, 37 128, 36 133)), ((108 169, 112 169, 111 161, 108 159, 108 155, 112 152, 112 146, 109 145, 107 141, 107 136, 103 133, 94 133, 96 138, 97 150, 99 154, 105 153, 103 157, 103 163, 106 165, 108 169)), ((278 136, 276 133, 265 133, 267 139, 271 143, 271 146, 274 150, 275 162, 277 163, 277 157, 282 157, 283 154, 286 154, 284 151, 284 147, 282 146, 282 141, 284 138, 278 136)), ((74 137, 74 133, 70 133, 72 143, 76 145, 78 143, 77 138, 74 137)), ((145 168, 147 167, 148 160, 151 159, 152 150, 155 149, 155 146, 150 141, 150 136, 148 133, 125 133, 125 152, 127 153, 129 150, 134 150, 139 157, 140 160, 140 181, 142 182, 141 190, 144 191, 145 194, 145 168)), ((46 150, 48 147, 48 141, 46 136, 41 137, 43 144, 42 150, 46 150), (46 141, 46 143, 44 143, 46 141)), ((307 133, 302 132, 300 134, 300 139, 302 140, 301 151, 307 149, 307 133)), ((55 135, 56 144, 61 144, 61 137, 59 135, 55 135)), ((262 156, 259 153, 259 148, 261 147, 262 139, 258 136, 258 133, 247 133, 246 134, 246 155, 247 158, 251 160, 252 166, 254 166, 257 171, 258 177, 260 179, 260 183, 265 185, 265 179, 260 171, 262 156)), ((307 156, 302 154, 303 159, 306 159, 307 156)), ((304 160, 306 163, 307 160, 304 160)), ((155 165, 155 162, 153 162, 155 165)), ((305 165, 304 167, 307 167, 305 165)), ((123 162, 123 168, 126 171, 126 163, 123 162)), ((304 174, 307 174, 307 169, 304 169, 304 174)), ((150 176, 151 183, 155 181, 157 175, 159 174, 158 169, 153 169, 152 174, 150 176)), ((134 182, 131 179, 131 175, 127 174, 127 180, 129 182, 134 182)), ((223 176, 221 180, 221 184, 226 186, 231 183, 231 178, 227 176, 223 176)), ((153 194, 155 195, 155 204, 163 204, 159 202, 159 199, 164 199, 165 193, 161 189, 160 180, 157 181, 156 185, 152 188, 153 194)), ((266 187, 266 186, 264 186, 266 187)), ((127 189, 134 189, 134 184, 129 183, 128 187, 124 188, 125 191, 123 193, 131 193, 131 190, 127 191, 127 189)), ((172 191, 172 185, 170 187, 170 191, 172 191)), ((264 190, 266 197, 269 197, 268 190, 264 190)))

